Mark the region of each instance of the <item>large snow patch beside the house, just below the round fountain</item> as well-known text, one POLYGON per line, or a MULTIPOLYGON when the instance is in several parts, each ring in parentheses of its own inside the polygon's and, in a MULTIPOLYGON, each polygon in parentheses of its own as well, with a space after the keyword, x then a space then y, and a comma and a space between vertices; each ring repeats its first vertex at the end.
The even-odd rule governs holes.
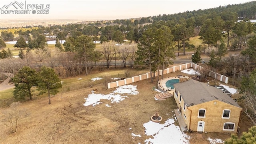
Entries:
POLYGON ((153 136, 144 142, 146 144, 188 144, 190 136, 180 131, 179 126, 175 126, 174 119, 169 118, 165 124, 149 121, 143 124, 145 134, 153 136))

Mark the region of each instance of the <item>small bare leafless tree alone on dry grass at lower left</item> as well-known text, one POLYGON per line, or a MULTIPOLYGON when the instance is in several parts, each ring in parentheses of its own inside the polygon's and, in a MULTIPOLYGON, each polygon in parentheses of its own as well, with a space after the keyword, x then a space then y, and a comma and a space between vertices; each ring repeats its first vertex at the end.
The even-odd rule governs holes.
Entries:
POLYGON ((29 116, 28 110, 20 108, 20 102, 13 102, 9 108, 1 114, 1 123, 11 128, 12 132, 16 132, 19 123, 29 116))

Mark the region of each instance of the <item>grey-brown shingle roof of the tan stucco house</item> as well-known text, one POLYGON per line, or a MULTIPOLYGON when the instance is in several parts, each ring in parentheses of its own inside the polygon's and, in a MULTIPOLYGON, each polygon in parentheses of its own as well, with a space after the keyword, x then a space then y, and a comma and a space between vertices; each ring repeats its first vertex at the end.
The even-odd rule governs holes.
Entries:
POLYGON ((212 100, 219 100, 233 106, 241 108, 230 96, 218 88, 208 86, 206 83, 196 80, 188 80, 174 84, 174 88, 179 91, 187 106, 194 106, 212 100))

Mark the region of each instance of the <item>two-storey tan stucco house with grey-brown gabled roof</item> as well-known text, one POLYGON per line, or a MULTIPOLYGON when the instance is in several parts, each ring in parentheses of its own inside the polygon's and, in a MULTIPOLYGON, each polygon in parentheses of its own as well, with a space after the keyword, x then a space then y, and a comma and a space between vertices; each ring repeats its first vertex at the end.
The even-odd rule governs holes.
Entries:
POLYGON ((173 93, 188 129, 237 132, 242 108, 221 89, 190 79, 174 84, 173 93))

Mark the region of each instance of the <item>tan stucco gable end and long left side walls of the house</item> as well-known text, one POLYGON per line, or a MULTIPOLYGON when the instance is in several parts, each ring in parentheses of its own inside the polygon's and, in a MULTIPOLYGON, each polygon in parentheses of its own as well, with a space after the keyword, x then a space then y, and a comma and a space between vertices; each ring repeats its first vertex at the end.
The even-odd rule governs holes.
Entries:
MULTIPOLYGON (((203 96, 201 101, 205 102, 195 105, 188 105, 183 99, 181 93, 175 88, 175 86, 173 96, 178 106, 180 115, 182 115, 182 118, 188 128, 194 131, 202 132, 237 132, 240 114, 242 111, 242 108, 239 105, 236 105, 233 102, 231 103, 234 105, 231 103, 228 104, 218 100, 218 98, 215 100, 207 101, 207 98, 204 99, 203 96), (204 112, 204 116, 199 116, 199 110, 204 112), (228 117, 223 117, 224 110, 229 112, 228 117), (227 126, 230 127, 227 128, 227 126)), ((229 96, 227 95, 227 97, 229 96)))

